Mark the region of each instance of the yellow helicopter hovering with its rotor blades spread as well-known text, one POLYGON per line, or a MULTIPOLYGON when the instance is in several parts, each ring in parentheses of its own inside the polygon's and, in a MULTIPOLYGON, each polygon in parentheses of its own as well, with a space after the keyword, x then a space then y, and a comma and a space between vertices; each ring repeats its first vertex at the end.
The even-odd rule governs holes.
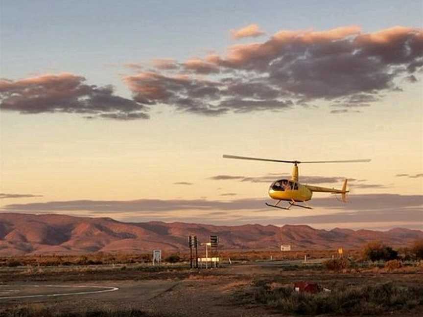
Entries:
POLYGON ((289 210, 292 206, 313 209, 307 205, 301 205, 297 203, 304 203, 309 201, 313 196, 313 192, 325 192, 331 194, 341 194, 341 200, 347 203, 347 179, 342 184, 342 189, 326 188, 312 185, 303 185, 298 182, 298 164, 300 163, 359 163, 359 162, 370 162, 371 159, 349 159, 349 160, 335 160, 335 161, 298 161, 298 160, 280 160, 280 159, 269 159, 269 158, 249 158, 240 157, 235 155, 224 155, 223 158, 236 158, 236 159, 249 159, 259 160, 266 162, 282 162, 292 163, 294 167, 292 169, 292 175, 290 180, 282 179, 272 182, 269 187, 269 196, 272 199, 278 200, 278 203, 272 205, 267 204, 269 207, 281 208, 289 210), (282 201, 288 202, 288 207, 278 206, 282 201))

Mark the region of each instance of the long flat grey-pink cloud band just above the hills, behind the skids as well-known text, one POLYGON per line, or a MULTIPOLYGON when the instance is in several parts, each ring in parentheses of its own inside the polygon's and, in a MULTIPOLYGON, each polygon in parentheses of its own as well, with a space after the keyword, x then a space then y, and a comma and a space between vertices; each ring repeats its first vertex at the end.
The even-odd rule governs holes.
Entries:
MULTIPOLYGON (((131 221, 186 221, 214 223, 222 225, 258 224, 338 224, 354 226, 356 223, 380 226, 397 226, 407 223, 409 226, 422 227, 423 195, 366 194, 351 195, 350 204, 342 204, 333 197, 314 198, 309 204, 316 208, 313 213, 304 216, 275 215, 275 208, 265 207, 264 199, 237 199, 232 201, 213 200, 152 200, 133 201, 65 201, 31 204, 9 204, 3 212, 87 212, 88 215, 110 216, 131 221), (182 210, 189 210, 183 213, 182 210), (195 210, 195 212, 193 212, 195 210), (178 211, 172 213, 172 211, 178 211), (218 215, 219 217, 216 217, 218 215), (373 225, 372 225, 373 224, 373 225), (391 225, 389 225, 391 224, 391 225)), ((296 209, 291 209, 296 210, 296 209)), ((301 214, 301 213, 300 213, 301 214)), ((292 215, 292 213, 290 213, 292 215)))

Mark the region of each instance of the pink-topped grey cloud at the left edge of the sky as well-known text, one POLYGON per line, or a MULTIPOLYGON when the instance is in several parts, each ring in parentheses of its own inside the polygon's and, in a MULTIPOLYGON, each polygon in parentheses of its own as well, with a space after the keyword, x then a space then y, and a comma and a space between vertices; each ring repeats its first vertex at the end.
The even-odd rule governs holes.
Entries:
POLYGON ((70 73, 0 80, 0 109, 20 113, 83 113, 89 118, 148 119, 147 108, 117 96, 112 86, 85 84, 70 73))

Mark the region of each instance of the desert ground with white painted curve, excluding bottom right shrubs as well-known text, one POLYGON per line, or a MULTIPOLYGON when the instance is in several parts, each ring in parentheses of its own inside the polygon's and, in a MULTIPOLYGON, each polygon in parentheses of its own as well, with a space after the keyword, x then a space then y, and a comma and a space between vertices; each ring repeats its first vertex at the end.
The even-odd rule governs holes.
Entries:
MULTIPOLYGON (((272 294, 279 287, 309 281, 335 296, 341 288, 395 285, 419 289, 423 284, 420 268, 331 272, 320 263, 266 260, 224 263, 207 271, 189 269, 187 263, 1 268, 0 316, 289 316, 298 314, 287 314, 278 304, 269 305, 257 292, 251 297, 252 290, 265 285, 266 294, 272 294), (112 315, 101 315, 106 313, 112 315)), ((422 295, 419 292, 417 296, 422 295)), ((405 308, 391 305, 367 310, 370 315, 376 312, 379 316, 421 316, 423 307, 420 300, 405 308)))

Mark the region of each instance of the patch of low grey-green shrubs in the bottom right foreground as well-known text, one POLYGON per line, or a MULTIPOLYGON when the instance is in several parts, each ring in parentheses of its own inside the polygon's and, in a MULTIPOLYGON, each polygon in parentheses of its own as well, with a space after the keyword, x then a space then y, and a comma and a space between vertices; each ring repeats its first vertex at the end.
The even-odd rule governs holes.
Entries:
POLYGON ((243 303, 262 303, 285 314, 296 315, 376 315, 410 310, 423 303, 423 287, 400 287, 393 283, 339 285, 332 292, 298 293, 292 287, 270 290, 256 283, 241 297, 243 303))

